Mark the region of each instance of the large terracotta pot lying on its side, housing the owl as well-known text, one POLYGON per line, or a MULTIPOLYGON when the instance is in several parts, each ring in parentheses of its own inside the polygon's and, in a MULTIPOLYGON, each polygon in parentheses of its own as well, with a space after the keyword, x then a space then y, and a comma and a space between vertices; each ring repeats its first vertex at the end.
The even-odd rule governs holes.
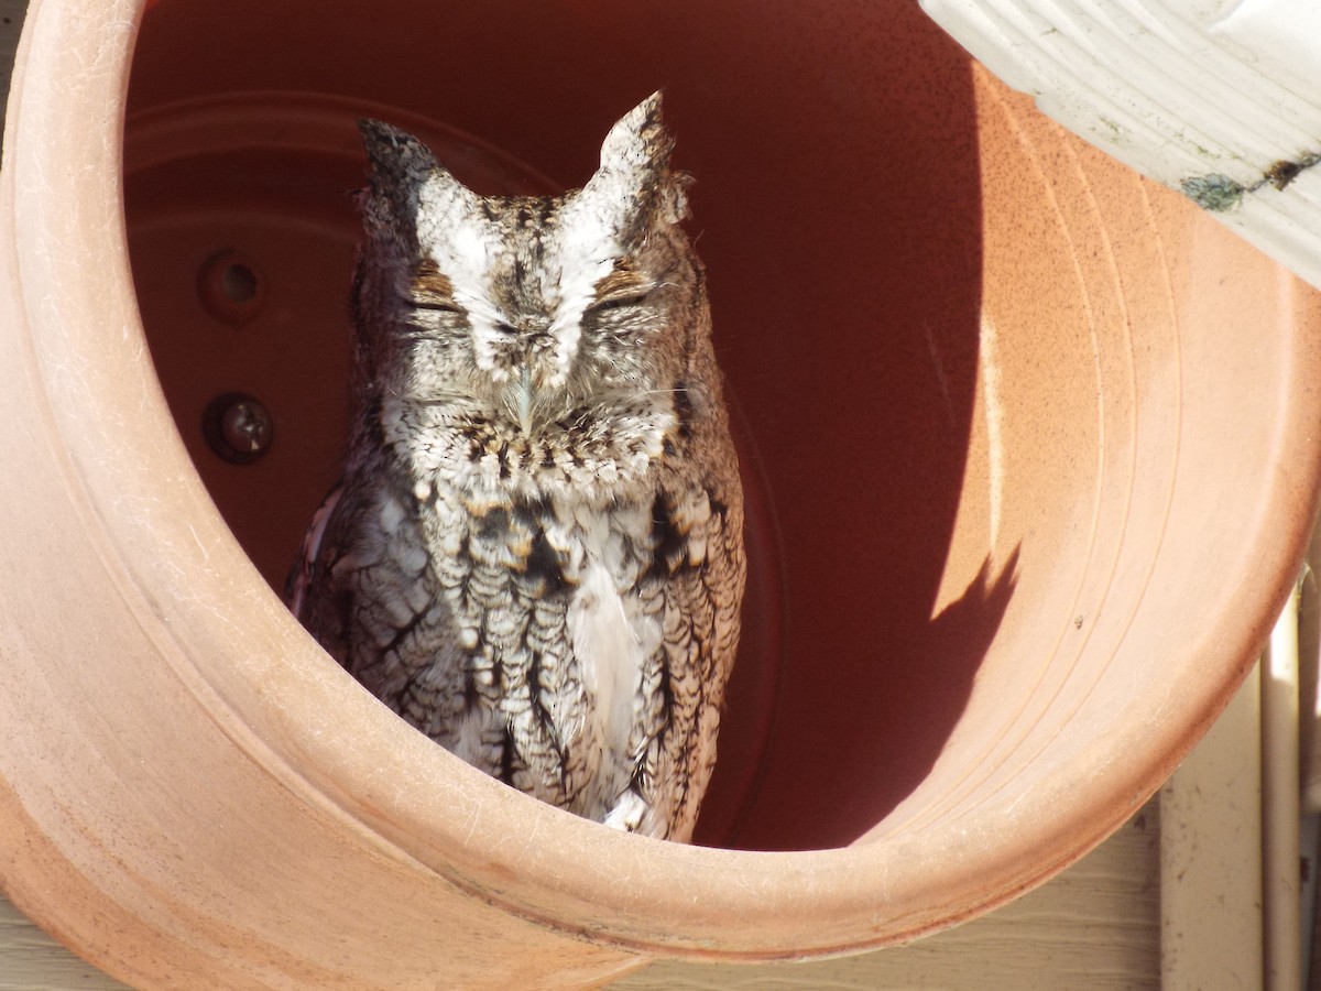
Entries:
POLYGON ((910 939, 1100 842, 1251 665, 1321 299, 910 4, 141 8, 33 3, 0 189, 0 876, 100 967, 571 986, 910 939), (336 473, 353 116, 569 185, 658 83, 754 507, 707 847, 470 770, 268 587, 336 473), (202 436, 234 391, 251 464, 202 436))

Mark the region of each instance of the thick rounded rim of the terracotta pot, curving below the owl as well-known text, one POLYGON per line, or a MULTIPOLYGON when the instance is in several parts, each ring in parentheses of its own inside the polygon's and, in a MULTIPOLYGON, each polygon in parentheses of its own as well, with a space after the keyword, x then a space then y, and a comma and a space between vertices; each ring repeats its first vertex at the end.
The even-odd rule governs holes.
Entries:
MULTIPOLYGON (((975 823, 946 817, 921 843, 868 836, 848 848, 765 854, 622 835, 466 766, 357 687, 299 626, 230 535, 178 440, 137 314, 116 197, 144 3, 74 11, 34 0, 28 13, 0 196, 13 219, 4 251, 30 334, 26 371, 45 396, 33 418, 63 447, 58 470, 81 506, 75 529, 95 544, 103 579, 159 662, 222 727, 235 760, 332 817, 347 843, 420 863, 436 884, 575 938, 629 950, 774 959, 888 945, 1008 901, 1091 850, 1160 786, 1250 670, 1243 658, 1264 642, 1297 573, 1314 513, 1314 455, 1292 482, 1269 481, 1279 498, 1262 499, 1262 529, 1283 539, 1263 548, 1240 613, 1188 646, 1214 677, 1164 703, 1166 747, 1139 748, 1143 727, 1094 744, 1090 801, 1061 765, 1012 807, 975 823), (112 178, 89 196, 78 189, 89 174, 112 178), (87 258, 104 260, 108 292, 87 258), (52 285, 62 292, 48 293, 52 285), (137 402, 125 404, 128 395, 137 402), (1309 513, 1285 509, 1300 503, 1309 513)), ((1297 447, 1287 440, 1281 449, 1297 447)), ((102 840, 104 856, 122 855, 102 840)), ((33 904, 21 876, 5 883, 33 904)), ((38 913, 55 904, 48 896, 38 913)), ((38 921, 63 929, 58 917, 38 921)))

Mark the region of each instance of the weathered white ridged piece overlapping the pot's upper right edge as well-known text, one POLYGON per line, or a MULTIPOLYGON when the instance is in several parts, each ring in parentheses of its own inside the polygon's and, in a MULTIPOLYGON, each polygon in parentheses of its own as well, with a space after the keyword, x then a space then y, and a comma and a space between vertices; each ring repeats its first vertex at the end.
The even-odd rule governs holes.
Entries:
POLYGON ((1321 5, 922 0, 1065 127, 1321 285, 1321 5), (1189 185, 1192 182, 1192 185, 1189 185))

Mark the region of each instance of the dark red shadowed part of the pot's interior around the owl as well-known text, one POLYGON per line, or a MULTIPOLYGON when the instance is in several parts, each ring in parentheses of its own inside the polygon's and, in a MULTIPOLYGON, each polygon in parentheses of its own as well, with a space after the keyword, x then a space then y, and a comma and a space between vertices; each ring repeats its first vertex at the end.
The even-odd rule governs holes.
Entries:
MULTIPOLYGON (((882 71, 868 45, 847 66, 827 57, 839 32, 787 7, 757 32, 700 4, 324 11, 289 46, 264 5, 168 0, 131 77, 143 320, 235 535, 279 589, 339 470, 354 119, 413 129, 481 192, 557 192, 664 86, 678 164, 697 177, 750 503, 746 632, 697 842, 857 839, 930 770, 1013 583, 1008 556, 978 548, 964 577, 987 573, 958 620, 941 616, 982 301, 966 58, 909 13, 882 71), (499 53, 481 41, 491 25, 499 53), (453 50, 437 58, 441 37, 453 50), (731 37, 738 50, 720 54, 731 37), (775 82, 786 71, 791 91, 775 82), (206 441, 235 394, 271 412, 269 453, 248 464, 206 441)), ((894 11, 860 5, 859 18, 877 38, 894 11)))

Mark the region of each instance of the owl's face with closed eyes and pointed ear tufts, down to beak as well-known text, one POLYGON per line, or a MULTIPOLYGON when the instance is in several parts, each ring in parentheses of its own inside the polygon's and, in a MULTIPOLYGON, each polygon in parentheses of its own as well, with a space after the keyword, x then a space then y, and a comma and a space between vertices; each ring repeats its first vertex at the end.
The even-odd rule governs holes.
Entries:
POLYGON ((686 180, 668 169, 659 95, 610 129, 597 172, 560 197, 481 197, 411 135, 362 129, 369 231, 411 262, 406 391, 468 396, 530 433, 631 402, 630 388, 663 388, 649 351, 664 336, 670 266, 684 256, 671 230, 686 180))

